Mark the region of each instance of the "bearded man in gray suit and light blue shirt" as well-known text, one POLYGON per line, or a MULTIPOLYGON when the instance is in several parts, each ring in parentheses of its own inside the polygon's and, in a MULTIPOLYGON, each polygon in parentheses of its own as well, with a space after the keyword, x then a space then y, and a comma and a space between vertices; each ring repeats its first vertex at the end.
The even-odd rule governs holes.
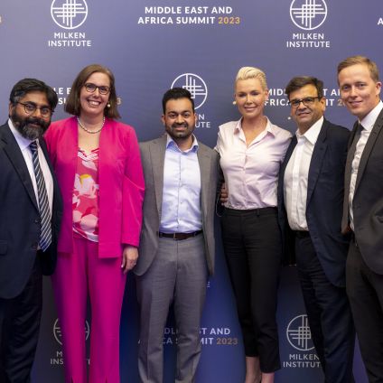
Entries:
POLYGON ((191 93, 163 95, 166 134, 140 145, 145 173, 144 220, 134 272, 140 304, 138 370, 163 381, 163 330, 173 304, 177 383, 194 381, 201 355, 200 322, 214 269, 218 154, 197 142, 191 93))

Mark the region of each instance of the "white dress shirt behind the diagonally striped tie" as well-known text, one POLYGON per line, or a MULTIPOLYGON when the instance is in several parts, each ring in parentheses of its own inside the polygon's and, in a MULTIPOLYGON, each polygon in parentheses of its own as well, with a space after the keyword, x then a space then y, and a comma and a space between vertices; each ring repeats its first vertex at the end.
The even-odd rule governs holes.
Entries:
MULTIPOLYGON (((8 126, 11 129, 11 132, 14 135, 14 138, 17 142, 17 145, 19 145, 20 150, 23 154, 23 158, 25 161, 25 164, 28 168, 29 175, 31 176, 31 181, 33 184, 33 190, 34 195, 36 196, 37 205, 39 204, 39 192, 37 189, 37 183, 36 183, 36 177, 34 175, 34 169, 33 169, 33 160, 32 160, 32 152, 29 147, 29 145, 32 143, 31 140, 24 138, 23 135, 21 135, 18 130, 14 127, 14 124, 12 123, 11 119, 8 119, 8 126)), ((50 217, 51 217, 51 210, 53 205, 53 178, 51 176, 51 170, 48 166, 47 160, 45 159, 45 155, 42 153, 42 148, 40 147, 39 141, 36 141, 37 143, 37 150, 39 154, 39 162, 40 167, 42 168, 42 175, 44 177, 45 181, 45 188, 47 191, 48 201, 49 201, 49 208, 50 208, 50 217)))

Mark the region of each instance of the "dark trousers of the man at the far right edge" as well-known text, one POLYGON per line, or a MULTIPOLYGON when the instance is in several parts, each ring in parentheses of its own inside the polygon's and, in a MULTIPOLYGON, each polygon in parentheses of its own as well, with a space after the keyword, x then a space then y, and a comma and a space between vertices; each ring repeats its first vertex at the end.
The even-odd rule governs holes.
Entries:
POLYGON ((347 257, 346 287, 369 383, 382 383, 383 276, 366 265, 354 240, 347 257))

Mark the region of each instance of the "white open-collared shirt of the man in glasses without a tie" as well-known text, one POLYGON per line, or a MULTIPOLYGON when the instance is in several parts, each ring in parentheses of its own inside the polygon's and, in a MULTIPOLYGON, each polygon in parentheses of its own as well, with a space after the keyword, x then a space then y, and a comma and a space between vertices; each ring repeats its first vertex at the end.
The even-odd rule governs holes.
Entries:
POLYGON ((285 168, 284 193, 288 223, 293 230, 308 230, 306 220, 307 184, 313 148, 321 132, 320 118, 304 135, 296 131, 297 144, 285 168))

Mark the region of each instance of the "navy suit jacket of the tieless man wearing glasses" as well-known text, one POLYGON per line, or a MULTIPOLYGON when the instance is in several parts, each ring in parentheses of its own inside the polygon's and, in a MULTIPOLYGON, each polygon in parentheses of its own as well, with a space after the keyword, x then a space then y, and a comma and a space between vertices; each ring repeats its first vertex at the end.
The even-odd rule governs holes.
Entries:
MULTIPOLYGON (((324 119, 310 163, 306 220, 313 247, 324 273, 336 286, 345 285, 348 238, 341 234, 344 164, 350 131, 324 119)), ((288 225, 284 199, 285 168, 297 143, 293 137, 281 166, 278 183, 279 222, 285 257, 294 263, 294 233, 288 225)))

